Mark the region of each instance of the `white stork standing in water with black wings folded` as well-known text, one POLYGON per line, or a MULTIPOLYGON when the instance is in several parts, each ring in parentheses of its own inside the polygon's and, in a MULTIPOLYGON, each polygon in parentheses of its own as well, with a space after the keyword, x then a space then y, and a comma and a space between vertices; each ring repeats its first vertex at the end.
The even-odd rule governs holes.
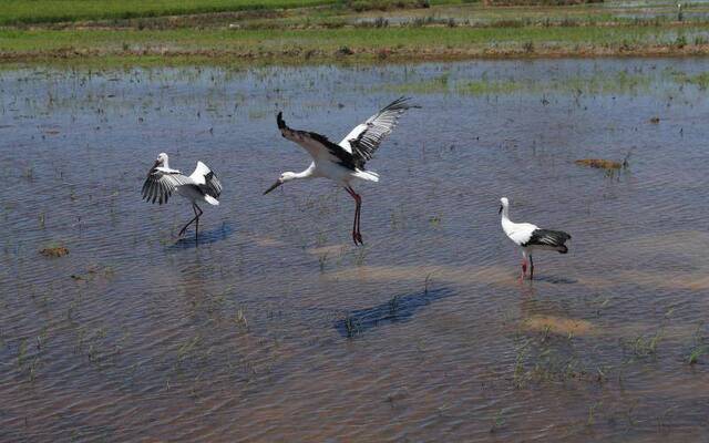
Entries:
POLYGON ((535 250, 556 250, 559 254, 568 253, 566 240, 572 236, 563 230, 540 229, 531 223, 514 223, 510 219, 510 200, 500 198, 500 213, 502 214, 502 229, 507 237, 522 248, 522 279, 527 271, 527 257, 530 257, 530 280, 534 278, 534 260, 532 253, 535 250))

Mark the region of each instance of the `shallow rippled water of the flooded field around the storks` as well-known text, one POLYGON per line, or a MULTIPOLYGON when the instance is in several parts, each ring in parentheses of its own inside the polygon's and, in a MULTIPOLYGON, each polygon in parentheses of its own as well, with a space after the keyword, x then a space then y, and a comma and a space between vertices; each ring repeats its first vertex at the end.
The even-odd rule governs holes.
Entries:
POLYGON ((706 439, 708 72, 2 72, 0 441, 706 439), (261 195, 309 163, 279 110, 339 141, 400 94, 422 107, 357 186, 363 247, 337 186, 261 195), (222 179, 198 246, 185 202, 141 200, 160 152, 222 179), (503 195, 573 235, 533 282, 503 195))

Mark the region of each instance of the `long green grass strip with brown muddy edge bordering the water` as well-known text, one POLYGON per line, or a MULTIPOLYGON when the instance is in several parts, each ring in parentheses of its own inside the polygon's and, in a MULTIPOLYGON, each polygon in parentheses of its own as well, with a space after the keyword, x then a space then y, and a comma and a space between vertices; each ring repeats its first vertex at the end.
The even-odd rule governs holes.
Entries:
POLYGON ((528 55, 708 53, 702 27, 2 29, 0 59, 198 58, 299 62, 528 55))

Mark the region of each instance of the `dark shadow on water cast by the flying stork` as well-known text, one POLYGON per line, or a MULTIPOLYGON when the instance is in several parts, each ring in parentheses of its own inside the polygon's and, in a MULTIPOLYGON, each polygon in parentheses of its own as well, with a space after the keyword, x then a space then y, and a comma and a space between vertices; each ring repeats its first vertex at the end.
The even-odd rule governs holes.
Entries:
POLYGON ((454 293, 449 288, 438 288, 398 295, 381 305, 349 312, 343 319, 335 322, 335 329, 340 336, 351 338, 383 324, 405 322, 431 302, 454 293))

